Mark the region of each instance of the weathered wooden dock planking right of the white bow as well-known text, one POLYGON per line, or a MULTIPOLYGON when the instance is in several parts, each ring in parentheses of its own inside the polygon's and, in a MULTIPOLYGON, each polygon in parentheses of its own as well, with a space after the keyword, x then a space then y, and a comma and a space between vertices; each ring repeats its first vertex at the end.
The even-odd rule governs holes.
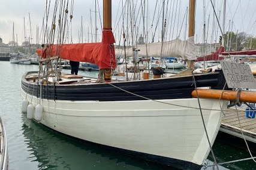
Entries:
POLYGON ((224 112, 225 116, 222 119, 220 131, 243 138, 240 129, 242 128, 246 140, 256 143, 256 118, 246 118, 245 110, 229 109, 228 111, 230 112, 224 112))

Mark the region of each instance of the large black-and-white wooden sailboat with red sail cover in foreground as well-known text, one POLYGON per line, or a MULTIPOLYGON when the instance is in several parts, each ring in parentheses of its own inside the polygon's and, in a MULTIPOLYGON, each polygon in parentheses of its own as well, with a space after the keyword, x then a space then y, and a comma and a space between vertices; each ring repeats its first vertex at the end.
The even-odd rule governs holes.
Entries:
MULTIPOLYGON (((95 63, 100 67, 101 81, 61 75, 58 69, 26 72, 22 76, 22 112, 28 119, 71 137, 180 169, 200 169, 218 134, 221 109, 227 108, 228 102, 202 98, 201 115, 191 92, 195 85, 223 89, 222 71, 111 81, 116 67, 111 6, 111 0, 103 1, 102 42, 49 44, 37 51, 41 62, 63 58, 95 63)), ((194 40, 193 27, 185 47, 194 40)))

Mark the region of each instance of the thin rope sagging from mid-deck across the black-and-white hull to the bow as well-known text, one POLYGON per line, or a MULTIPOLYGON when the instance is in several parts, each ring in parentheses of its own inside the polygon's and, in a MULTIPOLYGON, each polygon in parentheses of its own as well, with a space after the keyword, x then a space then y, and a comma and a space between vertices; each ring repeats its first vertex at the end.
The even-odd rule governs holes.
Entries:
MULTIPOLYGON (((177 107, 184 107, 184 108, 188 108, 188 109, 200 109, 200 108, 198 108, 198 107, 182 106, 182 105, 180 105, 180 104, 172 104, 172 103, 167 103, 167 102, 165 102, 165 101, 155 100, 155 99, 152 99, 152 98, 148 98, 148 97, 144 97, 144 96, 142 96, 142 95, 135 94, 135 93, 133 93, 133 92, 129 92, 129 91, 127 91, 127 90, 125 90, 125 89, 122 89, 122 88, 120 88, 119 86, 113 85, 112 83, 109 83, 109 82, 106 82, 106 84, 109 84, 109 85, 111 85, 111 86, 113 86, 113 87, 115 87, 115 88, 120 89, 121 91, 127 92, 127 93, 132 94, 132 95, 135 95, 135 96, 137 96, 137 97, 144 98, 144 99, 146 99, 146 100, 155 101, 155 102, 157 102, 157 103, 168 104, 168 105, 177 106, 177 107)), ((224 112, 224 111, 225 111, 225 112, 233 112, 233 110, 206 109, 206 108, 201 108, 201 110, 212 110, 212 111, 220 111, 220 112, 224 112)))

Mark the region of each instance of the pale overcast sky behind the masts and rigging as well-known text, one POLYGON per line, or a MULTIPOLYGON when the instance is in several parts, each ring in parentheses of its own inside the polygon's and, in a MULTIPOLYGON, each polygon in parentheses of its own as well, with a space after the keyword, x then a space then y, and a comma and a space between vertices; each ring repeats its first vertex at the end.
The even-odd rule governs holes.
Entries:
MULTIPOLYGON (((64 0, 63 0, 64 1, 64 0)), ((127 0, 123 0, 125 3, 127 0)), ((131 1, 131 0, 130 0, 131 1)), ((146 0, 148 1, 148 0, 146 0)), ((179 18, 179 21, 176 21, 177 29, 175 29, 175 34, 177 35, 179 31, 179 27, 182 27, 182 20, 185 16, 185 10, 188 6, 189 0, 165 0, 165 4, 169 3, 170 5, 173 4, 173 7, 176 12, 176 18, 179 18), (178 10, 176 8, 179 7, 178 10), (179 14, 179 16, 178 16, 179 14), (178 23, 178 24, 177 24, 178 23)), ((215 1, 216 6, 216 13, 220 13, 220 19, 222 24, 222 0, 212 0, 215 1), (219 12, 220 11, 220 12, 219 12)), ((13 38, 13 23, 14 23, 14 34, 15 34, 15 41, 16 41, 16 35, 17 35, 17 41, 19 44, 21 44, 24 41, 24 24, 23 24, 23 18, 25 17, 25 27, 26 27, 26 35, 30 35, 30 29, 29 29, 29 13, 31 17, 31 30, 32 30, 32 36, 33 41, 35 43, 36 38, 36 27, 38 26, 39 29, 41 29, 42 23, 43 23, 43 17, 44 17, 44 11, 46 6, 46 0, 0 0, 0 38, 3 39, 4 43, 8 43, 13 38)), ((52 4, 53 4, 52 0, 52 4)), ((136 2, 136 1, 134 1, 136 2)), ((140 2, 139 0, 137 2, 140 2)), ((155 10, 155 4, 156 0, 150 0, 149 2, 149 23, 151 23, 151 20, 153 18, 153 11, 155 10)), ((160 4, 160 0, 158 0, 158 5, 160 4)), ((72 21, 72 37, 73 42, 79 42, 79 32, 81 27, 81 16, 83 16, 83 36, 84 41, 88 41, 88 32, 91 32, 91 20, 92 24, 94 25, 95 16, 94 13, 91 13, 90 17, 90 9, 95 11, 94 7, 95 0, 74 0, 74 12, 73 12, 73 21, 72 21), (89 29, 89 30, 88 30, 89 29)), ((100 11, 102 11, 102 2, 101 0, 98 0, 98 3, 100 5, 100 11)), ((118 18, 121 16, 121 0, 113 0, 112 1, 112 8, 113 8, 113 14, 112 14, 112 27, 115 29, 118 23, 118 18)), ((97 7, 98 8, 98 7, 97 7)), ((172 9, 172 7, 170 6, 172 9)), ((246 32, 250 35, 255 35, 255 20, 256 20, 256 1, 255 0, 227 0, 227 11, 226 11, 226 22, 225 27, 226 31, 228 30, 228 27, 234 32, 246 32), (229 20, 233 20, 233 26, 229 26, 229 20)), ((171 10, 170 9, 170 10, 171 10)), ((70 9, 69 9, 70 10, 70 9)), ((174 11, 173 10, 173 11, 174 11)), ((157 13, 157 10, 156 10, 157 13)), ((173 13, 170 13, 173 14, 173 13)), ((209 24, 206 25, 206 27, 209 27, 208 30, 208 39, 210 41, 210 36, 212 35, 212 27, 213 27, 213 10, 212 5, 210 4, 210 0, 206 0, 206 24, 209 18, 209 24), (209 18, 210 16, 210 18, 209 18)), ((102 18, 102 15, 101 15, 102 18)), ((98 32, 101 32, 101 26, 100 26, 100 18, 97 15, 97 25, 98 25, 98 32)), ((172 21, 174 22, 174 21, 172 21)), ((185 22, 185 21, 184 21, 185 22)), ((174 23, 175 24, 175 23, 174 23)), ((173 24, 173 25, 174 25, 173 24)), ((122 23, 119 23, 119 27, 121 27, 122 23)), ((150 24, 149 24, 150 25, 150 24)), ((171 24, 169 24, 171 25, 171 24)), ((169 26, 168 25, 168 26, 169 26)), ((215 22, 215 27, 217 26, 215 22)), ((150 27, 150 26, 149 26, 150 27)), ((185 27, 185 24, 183 23, 183 27, 185 27)), ((116 27, 117 28, 117 27, 116 27)), ((171 26, 169 27, 168 31, 171 32, 171 26)), ((93 30, 94 26, 93 26, 93 30)), ((153 30, 153 28, 152 28, 153 30)), ((118 39, 119 35, 121 35, 121 30, 115 29, 115 36, 116 39, 118 39)), ((182 32, 185 32, 184 29, 182 32)), ((153 33, 152 33, 153 34, 153 33)), ((182 33, 183 35, 184 33, 182 33)), ((216 34, 216 30, 215 30, 216 34)), ((220 32, 218 31, 218 34, 220 35, 220 32)), ((159 35, 159 33, 158 33, 159 35)), ((171 35, 171 33, 170 33, 171 35)), ((176 35, 174 35, 176 37, 176 35)), ((196 26, 195 26, 195 39, 197 42, 200 42, 203 37, 203 0, 197 1, 197 8, 196 8, 196 26)), ((81 38, 81 37, 80 37, 81 38)), ((89 39, 91 38, 91 35, 89 35, 89 39)), ((157 36, 159 38, 159 36, 157 36)), ((101 37, 99 35, 98 41, 100 41, 101 37)), ((213 38, 214 39, 214 38, 213 38)), ((80 39, 81 41, 81 39, 80 39)), ((208 42, 209 42, 208 41, 208 42)))

